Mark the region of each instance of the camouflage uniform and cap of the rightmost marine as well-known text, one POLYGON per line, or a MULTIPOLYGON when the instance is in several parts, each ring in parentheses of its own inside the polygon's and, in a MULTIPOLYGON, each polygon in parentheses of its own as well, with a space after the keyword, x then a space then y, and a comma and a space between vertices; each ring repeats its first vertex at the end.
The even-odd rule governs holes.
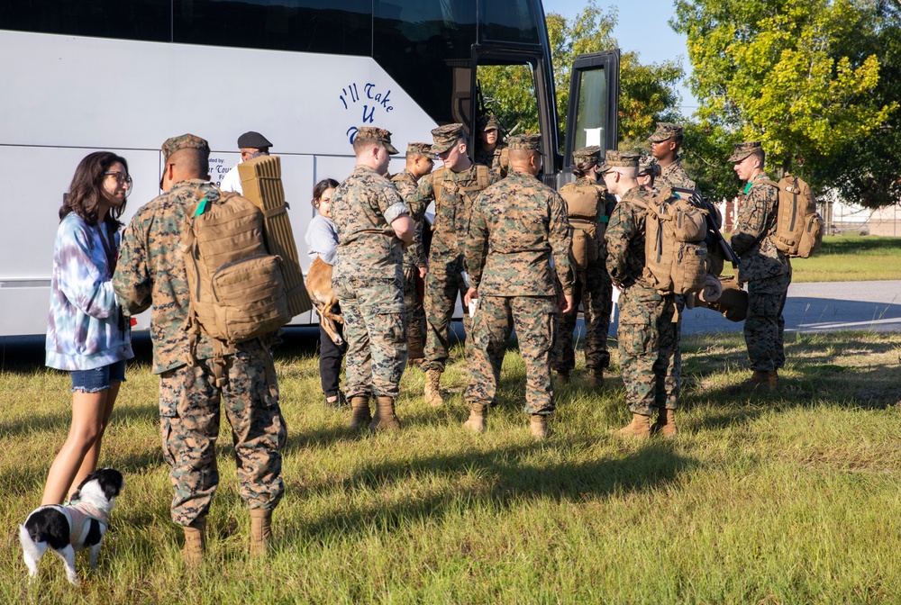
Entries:
MULTIPOLYGON (((760 144, 757 145, 757 149, 760 144)), ((736 154, 751 149, 748 143, 736 146, 736 154), (745 148, 742 148, 745 145, 745 148)), ((744 153, 741 161, 750 155, 744 153)), ((745 199, 738 212, 732 236, 732 248, 739 256, 739 279, 748 284, 748 317, 744 321, 744 340, 748 345, 751 369, 773 372, 785 366, 783 343, 788 285, 791 284, 791 262, 776 248, 772 236, 776 232, 778 191, 761 183, 769 176, 753 176, 745 187, 745 199)))

